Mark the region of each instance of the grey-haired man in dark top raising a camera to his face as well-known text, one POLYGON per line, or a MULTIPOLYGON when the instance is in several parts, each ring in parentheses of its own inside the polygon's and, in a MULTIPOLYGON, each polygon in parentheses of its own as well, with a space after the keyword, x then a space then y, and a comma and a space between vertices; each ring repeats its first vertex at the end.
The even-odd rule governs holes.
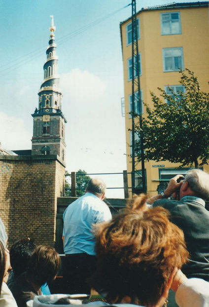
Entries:
POLYGON ((184 232, 189 261, 182 267, 188 277, 209 281, 209 174, 191 169, 185 178, 176 175, 167 189, 147 200, 153 207, 162 206, 170 212, 171 221, 184 232), (179 194, 178 200, 168 199, 179 194))

